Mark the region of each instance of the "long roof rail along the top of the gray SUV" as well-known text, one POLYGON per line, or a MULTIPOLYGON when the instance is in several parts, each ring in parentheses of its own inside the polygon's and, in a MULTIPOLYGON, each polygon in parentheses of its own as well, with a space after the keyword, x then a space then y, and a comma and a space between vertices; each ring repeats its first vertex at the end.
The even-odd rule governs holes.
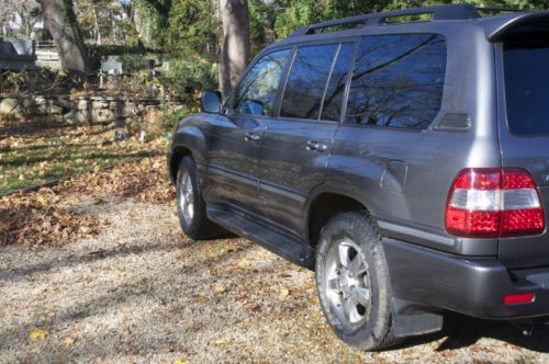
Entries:
POLYGON ((471 4, 448 4, 425 8, 412 8, 405 10, 384 11, 379 13, 369 13, 352 18, 345 18, 338 20, 330 20, 317 24, 304 26, 293 32, 292 36, 300 36, 306 34, 322 33, 324 30, 335 26, 363 26, 363 25, 379 25, 385 24, 385 19, 432 14, 433 20, 468 20, 481 18, 477 8, 471 4))

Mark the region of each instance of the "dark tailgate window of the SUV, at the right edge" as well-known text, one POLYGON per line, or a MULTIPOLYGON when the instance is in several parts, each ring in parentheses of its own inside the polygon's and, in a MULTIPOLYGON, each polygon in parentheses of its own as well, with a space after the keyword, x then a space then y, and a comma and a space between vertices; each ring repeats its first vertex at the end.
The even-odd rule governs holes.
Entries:
POLYGON ((505 94, 509 130, 518 135, 549 134, 549 39, 505 44, 505 94))

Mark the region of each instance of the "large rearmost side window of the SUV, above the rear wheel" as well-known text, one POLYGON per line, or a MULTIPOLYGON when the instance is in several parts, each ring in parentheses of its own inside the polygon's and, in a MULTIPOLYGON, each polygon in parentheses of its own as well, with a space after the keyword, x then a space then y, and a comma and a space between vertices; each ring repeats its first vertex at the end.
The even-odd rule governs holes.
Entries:
POLYGON ((424 129, 440 110, 445 75, 441 35, 367 36, 352 70, 346 122, 424 129))

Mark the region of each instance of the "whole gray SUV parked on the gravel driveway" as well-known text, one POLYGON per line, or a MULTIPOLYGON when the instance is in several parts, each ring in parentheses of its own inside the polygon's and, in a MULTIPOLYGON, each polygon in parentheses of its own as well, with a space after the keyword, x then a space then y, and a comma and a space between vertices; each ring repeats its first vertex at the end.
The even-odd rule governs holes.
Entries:
POLYGON ((373 13, 267 47, 177 126, 183 231, 314 269, 361 350, 446 310, 549 315, 549 12, 492 11, 373 13))

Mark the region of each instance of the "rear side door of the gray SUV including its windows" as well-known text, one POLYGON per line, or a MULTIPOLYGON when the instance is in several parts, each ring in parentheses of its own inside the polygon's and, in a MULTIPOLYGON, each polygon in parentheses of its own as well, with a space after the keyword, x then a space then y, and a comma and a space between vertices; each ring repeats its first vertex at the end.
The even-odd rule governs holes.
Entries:
POLYGON ((272 223, 302 236, 310 192, 324 181, 354 43, 303 45, 261 146, 259 195, 272 223))

